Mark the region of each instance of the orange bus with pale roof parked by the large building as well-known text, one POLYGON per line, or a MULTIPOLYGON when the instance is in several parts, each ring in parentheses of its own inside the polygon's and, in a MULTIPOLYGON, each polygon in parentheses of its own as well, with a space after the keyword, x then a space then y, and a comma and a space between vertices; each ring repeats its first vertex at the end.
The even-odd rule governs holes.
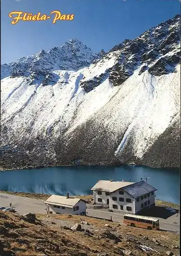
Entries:
POLYGON ((141 227, 146 229, 159 230, 159 220, 151 217, 125 214, 123 223, 132 227, 141 227))

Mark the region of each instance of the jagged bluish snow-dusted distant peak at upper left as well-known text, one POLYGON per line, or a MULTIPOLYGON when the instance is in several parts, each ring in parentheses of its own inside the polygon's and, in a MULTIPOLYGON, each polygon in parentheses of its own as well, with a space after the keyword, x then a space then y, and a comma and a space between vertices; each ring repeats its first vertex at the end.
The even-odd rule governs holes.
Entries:
POLYGON ((9 65, 2 65, 1 78, 7 76, 30 76, 32 72, 53 70, 79 70, 87 67, 100 57, 76 38, 71 38, 61 47, 54 47, 48 51, 28 57, 22 57, 9 65))

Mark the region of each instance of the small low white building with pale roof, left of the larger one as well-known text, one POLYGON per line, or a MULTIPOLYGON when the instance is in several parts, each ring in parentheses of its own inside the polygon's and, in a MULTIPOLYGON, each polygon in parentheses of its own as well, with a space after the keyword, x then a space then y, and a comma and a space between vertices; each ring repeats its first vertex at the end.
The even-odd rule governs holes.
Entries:
POLYGON ((71 198, 52 195, 45 202, 49 208, 57 214, 84 215, 86 212, 86 202, 80 198, 71 198))

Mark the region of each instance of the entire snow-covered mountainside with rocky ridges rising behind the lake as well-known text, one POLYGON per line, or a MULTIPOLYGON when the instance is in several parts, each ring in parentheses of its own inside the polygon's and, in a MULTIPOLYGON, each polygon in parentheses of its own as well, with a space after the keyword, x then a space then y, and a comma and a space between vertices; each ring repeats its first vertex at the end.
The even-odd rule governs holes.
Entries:
POLYGON ((179 31, 176 15, 108 53, 72 39, 3 65, 3 166, 179 166, 179 31))

